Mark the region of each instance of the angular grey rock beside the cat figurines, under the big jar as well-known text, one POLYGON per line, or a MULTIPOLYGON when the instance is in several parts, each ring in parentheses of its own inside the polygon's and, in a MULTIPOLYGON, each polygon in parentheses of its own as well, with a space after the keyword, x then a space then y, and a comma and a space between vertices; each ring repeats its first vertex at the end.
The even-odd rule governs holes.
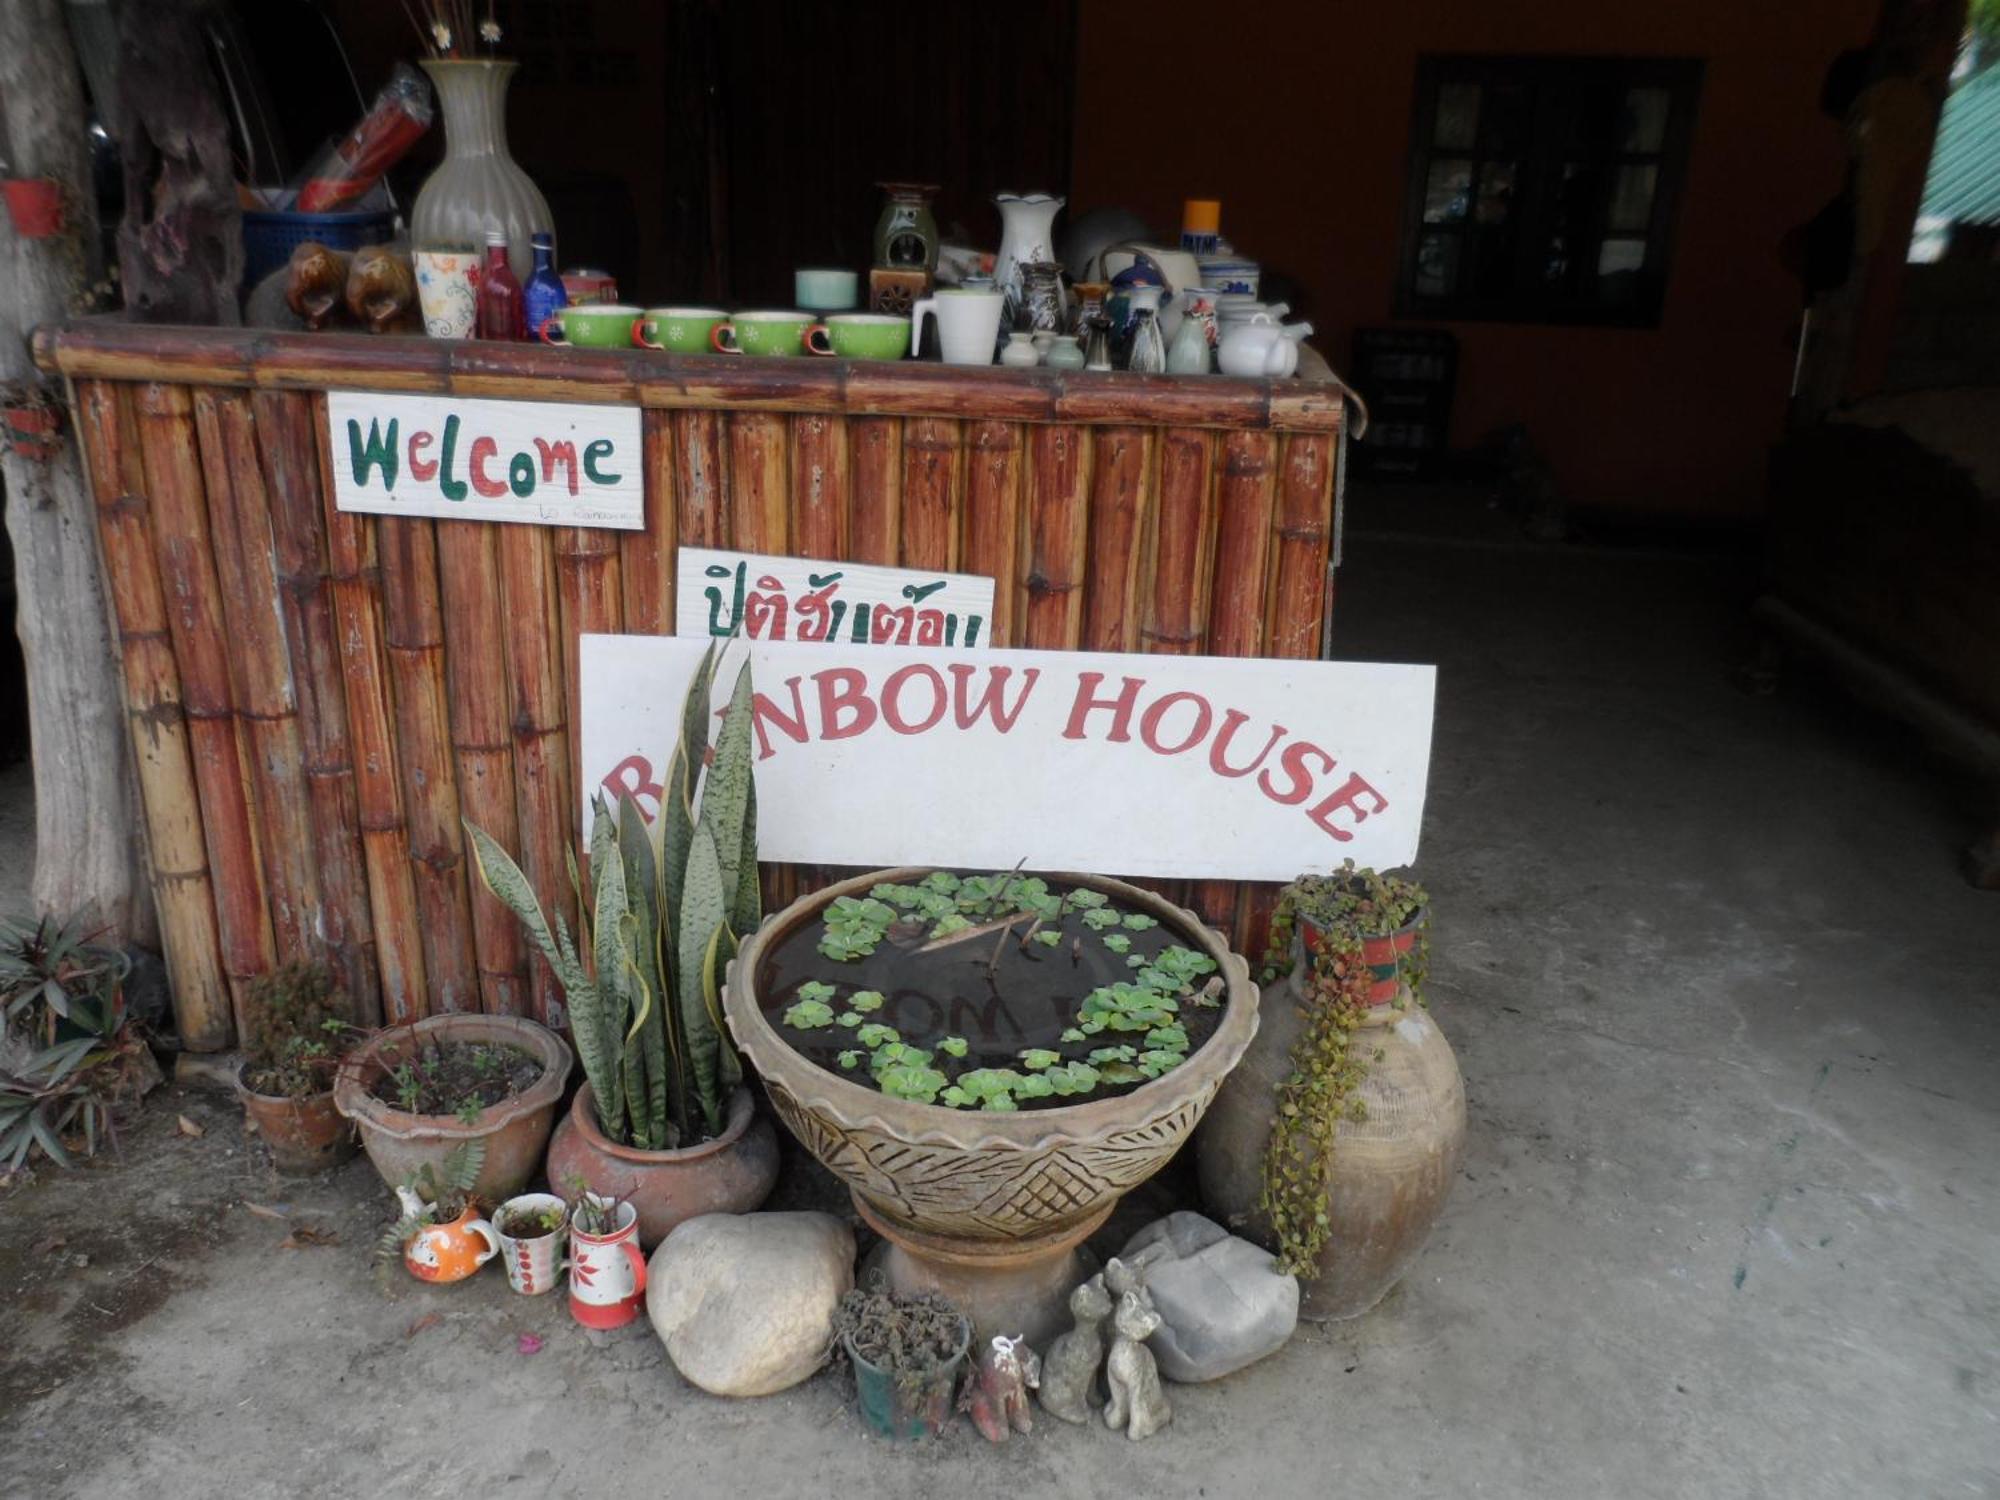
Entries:
POLYGON ((1298 1326, 1298 1280, 1268 1250, 1202 1214, 1154 1220, 1118 1258, 1146 1268, 1160 1312, 1146 1346, 1168 1380, 1220 1380, 1284 1348, 1298 1326))

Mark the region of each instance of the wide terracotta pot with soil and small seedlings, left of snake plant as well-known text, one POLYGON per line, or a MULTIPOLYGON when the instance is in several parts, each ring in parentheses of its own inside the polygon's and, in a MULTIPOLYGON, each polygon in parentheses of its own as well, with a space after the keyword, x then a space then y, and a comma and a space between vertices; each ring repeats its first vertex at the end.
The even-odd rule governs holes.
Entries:
POLYGON ((468 1140, 484 1142, 474 1190, 502 1202, 542 1164, 570 1048, 520 1016, 426 1016, 364 1038, 334 1078, 334 1108, 360 1126, 362 1150, 386 1184, 442 1170, 468 1140))

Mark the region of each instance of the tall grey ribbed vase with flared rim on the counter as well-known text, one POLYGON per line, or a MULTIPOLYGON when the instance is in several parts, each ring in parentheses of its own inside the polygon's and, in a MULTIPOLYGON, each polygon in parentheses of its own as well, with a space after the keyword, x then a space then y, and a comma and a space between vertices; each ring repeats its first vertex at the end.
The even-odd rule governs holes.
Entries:
POLYGON ((444 106, 444 160, 416 194, 410 238, 420 254, 476 254, 488 230, 504 230, 508 264, 526 284, 534 272, 530 236, 554 234, 556 224, 542 190, 506 150, 506 90, 516 68, 498 58, 424 60, 444 106))

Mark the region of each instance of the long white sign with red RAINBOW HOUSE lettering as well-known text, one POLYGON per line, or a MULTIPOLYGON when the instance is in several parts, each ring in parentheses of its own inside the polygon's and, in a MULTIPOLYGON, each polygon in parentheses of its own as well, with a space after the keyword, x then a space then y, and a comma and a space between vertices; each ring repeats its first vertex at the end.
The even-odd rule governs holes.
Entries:
MULTIPOLYGON (((592 792, 658 810, 708 642, 582 638, 592 792)), ((1290 880, 1416 858, 1432 666, 752 642, 766 860, 1290 880)))

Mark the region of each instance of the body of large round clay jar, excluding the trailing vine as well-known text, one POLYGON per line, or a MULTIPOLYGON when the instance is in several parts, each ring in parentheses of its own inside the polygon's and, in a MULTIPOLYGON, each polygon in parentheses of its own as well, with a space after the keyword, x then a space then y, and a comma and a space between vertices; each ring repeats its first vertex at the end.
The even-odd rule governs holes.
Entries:
MULTIPOLYGON (((1326 1192, 1332 1230, 1320 1274, 1300 1278, 1300 1316, 1314 1322, 1358 1318, 1402 1278, 1430 1238, 1458 1178, 1466 1140, 1466 1090, 1444 1032, 1402 990, 1402 1004, 1370 1006, 1354 1046, 1370 1056, 1354 1098, 1364 1120, 1334 1128, 1334 1170, 1326 1192)), ((1264 1024, 1196 1134, 1202 1198, 1224 1224, 1276 1250, 1256 1200, 1276 1090, 1292 1074, 1292 1044, 1304 1030, 1298 970, 1264 992, 1264 1024)))

